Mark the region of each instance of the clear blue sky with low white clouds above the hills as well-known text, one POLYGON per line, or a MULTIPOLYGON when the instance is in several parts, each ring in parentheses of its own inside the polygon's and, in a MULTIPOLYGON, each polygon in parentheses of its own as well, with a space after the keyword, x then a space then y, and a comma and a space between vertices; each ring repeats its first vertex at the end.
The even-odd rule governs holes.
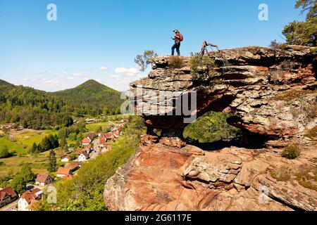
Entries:
POLYGON ((296 0, 0 0, 0 79, 56 91, 97 79, 124 91, 144 77, 134 58, 145 49, 170 54, 175 28, 183 56, 204 40, 221 49, 268 46, 281 30, 304 20, 296 0), (46 20, 50 3, 57 20, 46 20), (268 5, 260 21, 259 4, 268 5))

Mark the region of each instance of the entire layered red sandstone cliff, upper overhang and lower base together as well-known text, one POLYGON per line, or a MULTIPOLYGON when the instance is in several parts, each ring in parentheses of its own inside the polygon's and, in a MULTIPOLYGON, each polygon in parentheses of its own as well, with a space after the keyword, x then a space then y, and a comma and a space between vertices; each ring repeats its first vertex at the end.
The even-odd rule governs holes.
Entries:
POLYGON ((316 140, 304 138, 317 125, 316 54, 304 46, 249 46, 209 57, 216 65, 195 75, 189 57, 179 69, 170 57, 158 57, 149 76, 131 84, 130 101, 149 134, 161 129, 166 137, 142 138, 139 151, 108 179, 106 205, 110 210, 317 210, 316 140), (160 91, 168 91, 167 98, 171 93, 168 101, 159 98, 160 91), (260 147, 203 151, 183 143, 187 115, 168 115, 178 110, 170 102, 194 92, 197 108, 190 115, 232 113, 228 122, 249 134, 246 143, 260 147), (302 155, 282 158, 279 147, 294 141, 302 155))

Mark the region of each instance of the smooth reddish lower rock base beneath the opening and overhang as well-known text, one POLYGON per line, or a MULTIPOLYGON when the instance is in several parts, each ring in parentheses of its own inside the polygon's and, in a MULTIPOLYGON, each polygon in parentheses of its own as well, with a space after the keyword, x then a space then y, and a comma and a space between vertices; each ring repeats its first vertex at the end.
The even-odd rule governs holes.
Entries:
POLYGON ((301 183, 306 174, 316 185, 316 144, 287 160, 266 148, 203 151, 154 136, 142 143, 106 182, 109 210, 317 210, 316 186, 301 183))

